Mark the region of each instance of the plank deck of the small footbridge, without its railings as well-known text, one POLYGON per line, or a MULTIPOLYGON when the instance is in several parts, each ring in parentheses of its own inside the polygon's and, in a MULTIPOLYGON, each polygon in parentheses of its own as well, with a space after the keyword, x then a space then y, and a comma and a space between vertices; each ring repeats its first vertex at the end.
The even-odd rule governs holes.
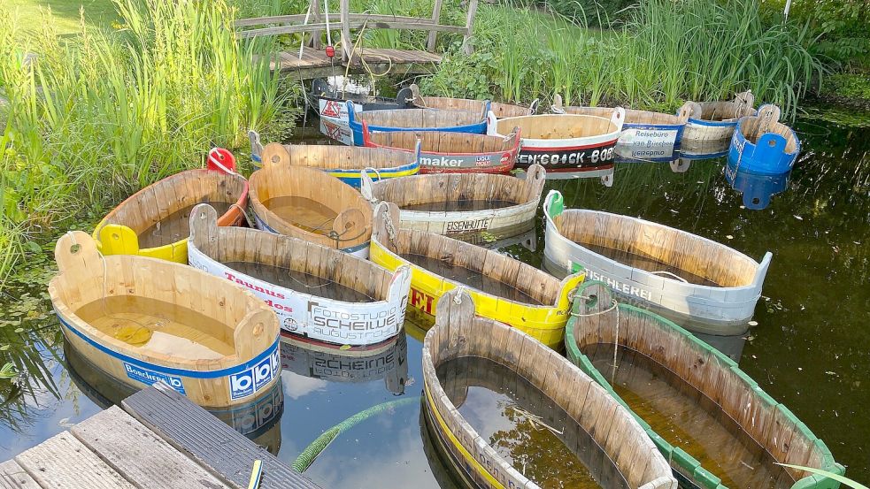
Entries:
MULTIPOLYGON (((359 54, 366 61, 368 68, 378 74, 388 70, 389 73, 397 75, 432 73, 441 63, 441 55, 419 50, 364 48, 359 54)), ((344 74, 346 68, 337 53, 334 58, 335 67, 333 67, 333 60, 327 57, 325 51, 309 47, 305 47, 302 51, 302 58, 299 57, 299 51, 284 51, 278 56, 277 62, 272 61, 269 64, 272 71, 290 74, 299 80, 344 74)), ((355 63, 350 66, 350 73, 365 73, 365 68, 358 62, 358 58, 354 57, 354 60, 355 63)))

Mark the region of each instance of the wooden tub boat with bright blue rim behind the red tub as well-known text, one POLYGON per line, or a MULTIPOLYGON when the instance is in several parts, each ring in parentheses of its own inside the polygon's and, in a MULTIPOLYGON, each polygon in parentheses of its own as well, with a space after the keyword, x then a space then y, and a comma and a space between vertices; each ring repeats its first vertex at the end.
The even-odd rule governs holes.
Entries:
POLYGON ((489 102, 477 111, 477 101, 468 101, 467 110, 397 109, 357 112, 348 102, 348 124, 353 144, 363 146, 363 122, 372 132, 397 133, 437 131, 445 133, 486 134, 489 102))

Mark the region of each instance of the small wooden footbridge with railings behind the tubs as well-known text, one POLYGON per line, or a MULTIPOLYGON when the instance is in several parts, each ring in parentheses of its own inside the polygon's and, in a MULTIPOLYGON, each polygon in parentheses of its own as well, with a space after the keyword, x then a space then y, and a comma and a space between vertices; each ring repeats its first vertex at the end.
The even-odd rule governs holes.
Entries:
POLYGON ((311 34, 303 46, 295 52, 276 53, 271 63, 273 70, 287 73, 299 80, 321 78, 332 74, 350 73, 431 73, 435 65, 441 63, 441 55, 435 53, 435 40, 438 33, 462 34, 466 52, 470 52, 468 42, 473 34, 474 15, 478 0, 467 0, 466 25, 448 26, 439 23, 443 0, 435 0, 431 18, 405 17, 372 13, 350 13, 350 0, 340 0, 339 12, 328 11, 327 0, 312 0, 308 12, 277 17, 258 17, 235 21, 239 38, 252 38, 280 34, 311 34), (321 5, 321 1, 323 4, 321 5), (325 8, 323 8, 325 7, 325 8), (362 46, 351 36, 352 30, 400 29, 422 30, 429 33, 426 50, 396 50, 369 48, 362 46), (332 32, 339 31, 339 42, 330 46, 332 32), (327 44, 322 34, 326 34, 327 44), (335 57, 327 56, 330 48, 335 57))

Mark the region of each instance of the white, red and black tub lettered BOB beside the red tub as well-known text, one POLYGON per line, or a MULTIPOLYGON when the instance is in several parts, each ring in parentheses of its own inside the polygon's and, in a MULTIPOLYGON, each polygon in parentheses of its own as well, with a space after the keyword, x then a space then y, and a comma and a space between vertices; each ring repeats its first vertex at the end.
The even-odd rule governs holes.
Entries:
POLYGON ((510 134, 519 127, 522 140, 518 168, 541 164, 548 178, 600 177, 613 184, 613 151, 622 131, 622 109, 607 118, 590 115, 541 114, 497 118, 489 112, 489 134, 510 134))

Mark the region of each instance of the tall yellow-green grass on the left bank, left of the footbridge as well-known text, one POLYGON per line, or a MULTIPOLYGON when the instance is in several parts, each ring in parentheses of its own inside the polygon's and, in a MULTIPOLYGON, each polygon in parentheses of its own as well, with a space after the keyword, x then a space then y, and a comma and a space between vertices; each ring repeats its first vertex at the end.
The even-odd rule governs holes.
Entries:
POLYGON ((110 31, 39 33, 0 6, 0 277, 30 233, 203 164, 280 116, 271 40, 239 43, 223 0, 114 0, 110 31), (28 53, 35 53, 35 61, 28 53))

